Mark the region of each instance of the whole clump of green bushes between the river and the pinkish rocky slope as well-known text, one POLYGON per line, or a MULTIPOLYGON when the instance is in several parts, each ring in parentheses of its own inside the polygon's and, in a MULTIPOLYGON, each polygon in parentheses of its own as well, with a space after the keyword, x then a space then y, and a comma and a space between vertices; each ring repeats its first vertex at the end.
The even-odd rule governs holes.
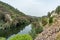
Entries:
POLYGON ((41 33, 43 31, 43 27, 40 26, 39 22, 33 22, 32 23, 32 30, 30 32, 30 35, 32 36, 33 40, 37 36, 37 34, 41 33))

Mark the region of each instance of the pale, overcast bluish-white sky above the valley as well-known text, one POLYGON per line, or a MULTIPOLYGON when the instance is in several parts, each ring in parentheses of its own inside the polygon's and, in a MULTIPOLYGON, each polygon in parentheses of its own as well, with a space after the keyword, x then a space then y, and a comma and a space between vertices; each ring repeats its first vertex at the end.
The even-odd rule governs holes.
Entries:
POLYGON ((0 0, 26 15, 43 16, 60 5, 60 0, 0 0))

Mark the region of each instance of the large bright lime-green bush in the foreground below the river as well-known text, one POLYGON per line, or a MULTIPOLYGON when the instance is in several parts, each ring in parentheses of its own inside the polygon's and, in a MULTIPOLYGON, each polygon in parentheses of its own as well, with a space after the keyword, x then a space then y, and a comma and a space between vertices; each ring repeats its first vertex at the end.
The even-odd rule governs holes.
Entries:
POLYGON ((17 34, 9 38, 9 40, 32 40, 32 37, 28 34, 17 34))

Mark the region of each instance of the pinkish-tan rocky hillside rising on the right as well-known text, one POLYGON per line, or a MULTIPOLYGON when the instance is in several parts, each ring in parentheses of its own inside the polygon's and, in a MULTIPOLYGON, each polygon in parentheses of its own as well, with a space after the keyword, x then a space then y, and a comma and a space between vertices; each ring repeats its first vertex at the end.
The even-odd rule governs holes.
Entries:
MULTIPOLYGON (((52 13, 53 16, 52 24, 47 23, 44 26, 42 33, 38 34, 35 40, 57 40, 57 34, 60 32, 60 6, 58 6, 52 13)), ((50 21, 51 22, 51 21, 50 21)), ((59 35, 58 35, 59 36, 59 35)), ((59 37, 58 37, 59 38, 59 37)), ((60 40, 60 39, 58 39, 60 40)))

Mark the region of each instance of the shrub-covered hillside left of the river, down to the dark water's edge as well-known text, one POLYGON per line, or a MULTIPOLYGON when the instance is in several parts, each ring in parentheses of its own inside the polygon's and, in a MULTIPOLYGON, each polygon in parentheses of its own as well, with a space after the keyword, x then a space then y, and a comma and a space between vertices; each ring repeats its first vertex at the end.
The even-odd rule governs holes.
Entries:
POLYGON ((37 17, 25 15, 14 7, 0 1, 0 37, 16 34, 36 20, 38 20, 37 17))

